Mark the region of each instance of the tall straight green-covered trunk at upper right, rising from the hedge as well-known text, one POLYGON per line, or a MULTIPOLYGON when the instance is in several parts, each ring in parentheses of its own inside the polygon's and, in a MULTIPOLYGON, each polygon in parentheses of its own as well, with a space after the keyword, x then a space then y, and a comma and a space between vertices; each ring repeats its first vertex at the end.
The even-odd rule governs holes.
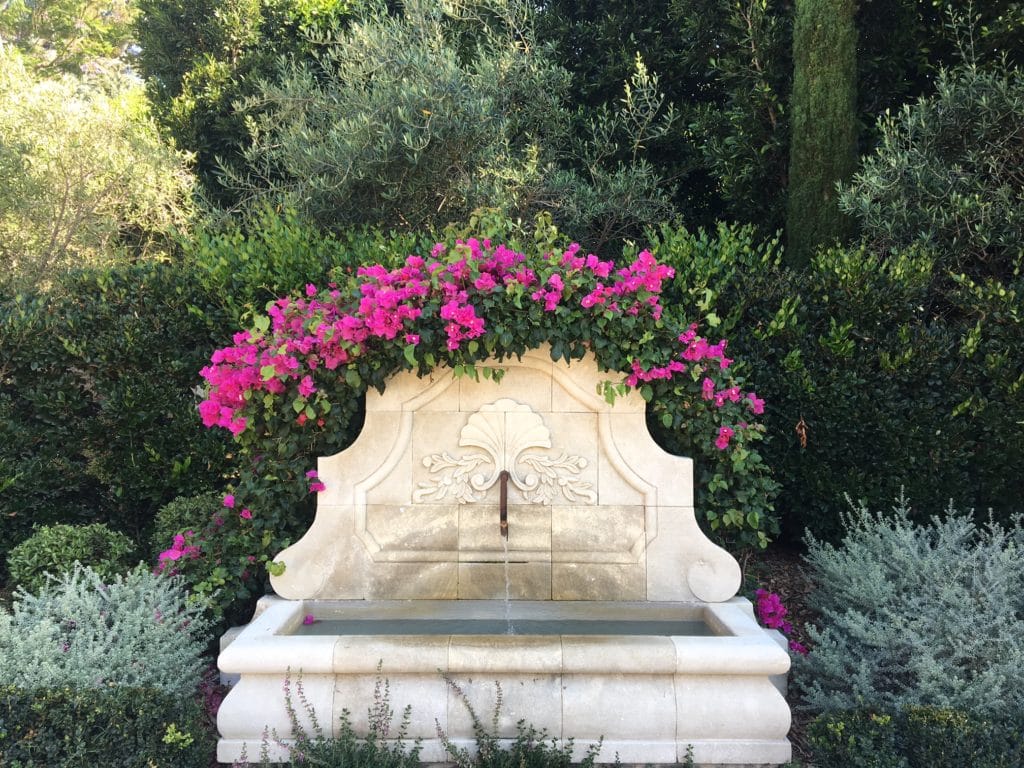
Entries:
POLYGON ((856 0, 797 0, 790 103, 786 260, 806 264, 847 237, 836 184, 857 163, 856 0))

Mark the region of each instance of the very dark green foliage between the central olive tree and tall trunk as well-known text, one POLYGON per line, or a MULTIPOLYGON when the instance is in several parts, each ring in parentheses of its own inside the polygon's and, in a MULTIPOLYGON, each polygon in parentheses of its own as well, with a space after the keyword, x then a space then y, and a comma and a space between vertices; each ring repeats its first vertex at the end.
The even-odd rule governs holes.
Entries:
MULTIPOLYGON (((546 0, 542 40, 572 73, 583 123, 622 95, 637 55, 676 105, 645 142, 651 170, 691 225, 720 218, 781 226, 788 132, 790 13, 785 0, 546 0)), ((616 159, 626 161, 626 147, 616 159)))

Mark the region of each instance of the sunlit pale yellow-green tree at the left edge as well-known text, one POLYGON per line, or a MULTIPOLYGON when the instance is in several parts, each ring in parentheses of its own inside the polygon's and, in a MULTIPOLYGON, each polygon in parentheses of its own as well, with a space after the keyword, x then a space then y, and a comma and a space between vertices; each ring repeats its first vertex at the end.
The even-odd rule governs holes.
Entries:
POLYGON ((163 252, 190 215, 187 158, 165 145, 141 87, 39 80, 0 51, 0 282, 163 252))

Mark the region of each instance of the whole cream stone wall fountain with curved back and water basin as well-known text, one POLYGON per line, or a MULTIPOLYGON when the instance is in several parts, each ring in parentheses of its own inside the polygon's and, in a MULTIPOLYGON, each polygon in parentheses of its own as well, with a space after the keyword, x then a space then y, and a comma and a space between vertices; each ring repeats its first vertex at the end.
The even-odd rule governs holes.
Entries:
POLYGON ((220 654, 240 680, 218 759, 258 755, 267 727, 287 741, 287 676, 326 732, 342 710, 358 730, 381 663, 426 762, 445 759, 438 729, 472 740, 441 674, 483 714, 500 684, 501 736, 525 719, 580 756, 603 738, 599 762, 787 762, 772 677, 790 657, 697 526, 692 461, 654 443, 637 393, 604 400, 593 358, 488 365, 500 383, 395 376, 354 443, 319 460, 315 520, 220 654))

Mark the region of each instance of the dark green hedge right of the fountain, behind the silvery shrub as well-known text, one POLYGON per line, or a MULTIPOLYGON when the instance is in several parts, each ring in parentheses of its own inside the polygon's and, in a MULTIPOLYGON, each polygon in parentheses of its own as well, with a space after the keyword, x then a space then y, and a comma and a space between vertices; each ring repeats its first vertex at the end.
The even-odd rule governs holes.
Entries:
POLYGON ((1024 278, 950 281, 927 254, 861 248, 792 270, 725 226, 666 228, 656 255, 673 311, 718 324, 767 400, 783 537, 838 540, 844 495, 886 509, 901 487, 914 509, 1022 511, 1024 278))

